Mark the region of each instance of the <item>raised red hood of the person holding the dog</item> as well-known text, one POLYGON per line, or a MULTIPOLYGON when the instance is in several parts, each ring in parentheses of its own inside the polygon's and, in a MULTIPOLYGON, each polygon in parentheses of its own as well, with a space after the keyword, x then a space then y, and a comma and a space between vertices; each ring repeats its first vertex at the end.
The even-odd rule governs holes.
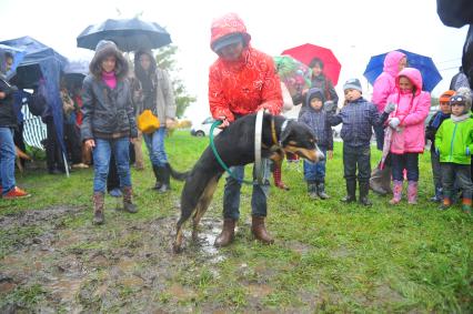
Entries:
POLYGON ((227 13, 223 17, 214 19, 211 26, 210 48, 215 51, 213 49, 214 43, 232 33, 241 33, 244 44, 249 47, 251 36, 246 32, 243 20, 236 13, 227 13))

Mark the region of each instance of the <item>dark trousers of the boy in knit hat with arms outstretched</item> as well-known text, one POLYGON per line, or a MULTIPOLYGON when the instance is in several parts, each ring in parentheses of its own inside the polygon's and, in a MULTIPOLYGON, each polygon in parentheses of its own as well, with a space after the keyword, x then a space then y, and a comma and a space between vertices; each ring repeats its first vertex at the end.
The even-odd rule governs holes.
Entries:
POLYGON ((356 166, 358 181, 361 183, 368 183, 371 175, 370 145, 354 148, 343 144, 343 176, 346 181, 356 180, 356 166))

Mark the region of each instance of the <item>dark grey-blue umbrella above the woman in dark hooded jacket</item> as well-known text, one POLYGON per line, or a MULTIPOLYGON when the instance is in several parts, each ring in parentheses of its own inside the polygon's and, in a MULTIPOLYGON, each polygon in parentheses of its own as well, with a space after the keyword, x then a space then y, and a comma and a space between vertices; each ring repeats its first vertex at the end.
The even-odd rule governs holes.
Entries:
POLYGON ((87 27, 77 38, 78 47, 95 50, 101 40, 111 40, 121 51, 157 49, 171 43, 165 29, 138 18, 112 20, 87 27))

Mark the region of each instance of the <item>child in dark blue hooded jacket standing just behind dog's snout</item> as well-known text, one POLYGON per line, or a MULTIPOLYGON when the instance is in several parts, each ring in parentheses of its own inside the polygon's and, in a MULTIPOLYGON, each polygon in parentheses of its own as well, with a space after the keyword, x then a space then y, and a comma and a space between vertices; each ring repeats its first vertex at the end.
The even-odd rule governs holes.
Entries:
MULTIPOLYGON (((306 94, 308 108, 302 113, 299 121, 308 124, 318 138, 320 150, 329 159, 333 158, 333 135, 328 112, 322 110, 325 97, 321 89, 310 89, 306 94)), ((320 161, 315 164, 304 161, 304 179, 308 182, 308 193, 312 199, 321 197, 326 200, 330 196, 325 193, 325 161, 320 161)))

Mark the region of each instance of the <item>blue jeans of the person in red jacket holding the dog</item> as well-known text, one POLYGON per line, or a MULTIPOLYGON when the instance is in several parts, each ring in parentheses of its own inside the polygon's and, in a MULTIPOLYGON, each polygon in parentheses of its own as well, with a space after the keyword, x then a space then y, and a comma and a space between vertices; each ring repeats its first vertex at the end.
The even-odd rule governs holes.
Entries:
MULTIPOLYGON (((262 164, 263 184, 258 184, 253 166, 253 192, 251 195, 251 214, 253 216, 266 216, 268 204, 266 197, 270 193, 270 160, 263 159, 262 164)), ((225 182, 225 190, 223 192, 223 217, 238 220, 240 217, 240 190, 241 180, 244 178, 244 165, 231 166, 230 171, 235 178, 228 175, 225 182)))

